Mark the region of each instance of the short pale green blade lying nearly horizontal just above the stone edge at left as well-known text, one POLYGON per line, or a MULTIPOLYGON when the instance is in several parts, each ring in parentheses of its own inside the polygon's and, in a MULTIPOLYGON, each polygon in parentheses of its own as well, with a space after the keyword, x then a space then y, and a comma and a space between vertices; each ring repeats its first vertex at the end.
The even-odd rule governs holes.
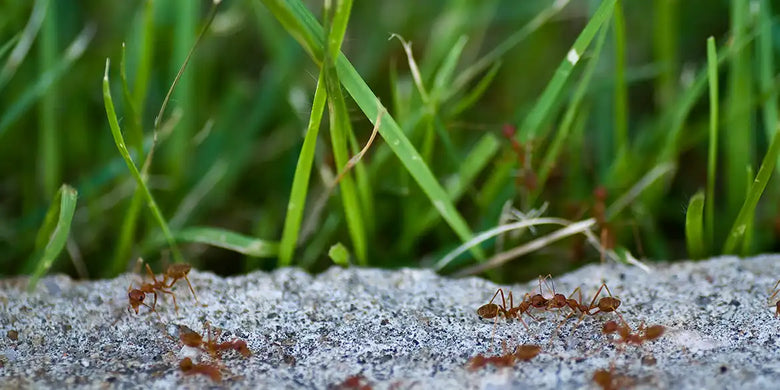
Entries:
POLYGON ((173 233, 177 242, 206 244, 252 257, 274 257, 279 254, 279 243, 245 236, 230 230, 195 226, 173 233))

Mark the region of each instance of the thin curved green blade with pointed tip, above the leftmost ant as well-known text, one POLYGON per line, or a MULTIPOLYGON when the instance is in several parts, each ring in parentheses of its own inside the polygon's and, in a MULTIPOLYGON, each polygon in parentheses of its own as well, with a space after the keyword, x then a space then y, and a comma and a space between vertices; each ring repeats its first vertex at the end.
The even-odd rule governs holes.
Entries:
MULTIPOLYGON (((106 58, 106 70, 103 75, 103 104, 106 108, 106 116, 108 117, 108 124, 111 128, 111 135, 114 137, 114 143, 116 143, 116 147, 119 149, 119 154, 122 155, 122 158, 125 160, 125 164, 130 170, 130 174, 136 181, 136 185, 143 191, 144 198, 146 198, 146 204, 149 207, 152 216, 160 225, 160 229, 162 230, 165 239, 168 241, 168 245, 173 253, 174 261, 177 263, 183 262, 184 258, 182 257, 181 252, 179 252, 178 246, 176 246, 176 241, 168 228, 168 223, 165 221, 162 212, 160 212, 160 209, 157 207, 157 202, 155 202, 152 193, 149 191, 149 187, 146 186, 143 177, 141 177, 141 173, 138 172, 138 168, 136 168, 135 163, 133 163, 133 160, 130 158, 130 153, 125 145, 125 140, 122 138, 122 130, 119 128, 119 121, 116 118, 114 101, 111 98, 111 88, 108 81, 108 69, 110 64, 111 60, 106 58)), ((149 154, 151 154, 151 151, 149 154)))

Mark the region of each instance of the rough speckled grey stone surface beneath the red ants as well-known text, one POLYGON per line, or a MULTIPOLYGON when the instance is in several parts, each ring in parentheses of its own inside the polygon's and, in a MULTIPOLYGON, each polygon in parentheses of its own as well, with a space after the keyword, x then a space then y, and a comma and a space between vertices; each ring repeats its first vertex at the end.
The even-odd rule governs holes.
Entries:
MULTIPOLYGON (((579 389, 595 388, 594 371, 611 365, 638 388, 773 388, 780 379, 780 318, 767 301, 780 256, 660 265, 649 274, 593 265, 558 277, 558 291, 580 286, 588 297, 606 281, 631 326, 661 324, 666 334, 623 350, 601 334, 616 318, 602 314, 576 330, 570 319, 551 339, 563 315, 537 313, 530 331, 499 321, 491 354, 501 352, 501 340, 538 344, 542 354, 477 371, 467 362, 491 348, 494 324, 475 310, 498 287, 482 279, 359 268, 315 277, 297 269, 190 276, 207 306, 178 284, 180 310, 162 299, 162 322, 146 309, 126 310, 136 276, 53 276, 33 294, 24 278, 0 281, 0 388, 328 388, 360 375, 376 389, 579 389), (248 359, 226 354, 219 384, 178 369, 184 356, 206 356, 175 341, 177 325, 201 332, 204 321, 223 329, 222 340, 245 339, 253 352, 248 359), (647 364, 650 357, 655 364, 647 364)), ((536 282, 508 287, 522 296, 536 282)))

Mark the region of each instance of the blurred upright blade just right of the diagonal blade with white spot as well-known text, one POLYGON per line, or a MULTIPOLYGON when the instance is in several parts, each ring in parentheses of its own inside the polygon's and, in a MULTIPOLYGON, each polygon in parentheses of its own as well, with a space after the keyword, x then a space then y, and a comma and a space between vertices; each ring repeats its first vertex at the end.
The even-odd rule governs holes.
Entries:
MULTIPOLYGON (((615 155, 628 150, 628 84, 626 83, 626 19, 623 15, 623 0, 615 3, 613 17, 615 31, 615 155)), ((541 186, 540 186, 541 187, 541 186)))

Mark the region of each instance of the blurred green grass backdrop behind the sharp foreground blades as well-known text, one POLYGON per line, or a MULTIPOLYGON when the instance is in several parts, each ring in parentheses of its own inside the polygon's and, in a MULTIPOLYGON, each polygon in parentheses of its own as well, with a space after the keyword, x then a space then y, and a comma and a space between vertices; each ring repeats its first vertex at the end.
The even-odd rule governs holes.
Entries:
MULTIPOLYGON (((385 140, 378 137, 345 176, 354 189, 342 181, 333 190, 344 165, 334 148, 356 154, 377 118, 367 118, 347 92, 346 116, 339 114, 337 84, 328 84, 322 123, 310 117, 318 64, 338 65, 328 54, 324 62, 312 61, 279 23, 278 9, 294 3, 224 0, 162 117, 145 182, 184 258, 220 274, 279 264, 296 167, 307 126, 314 126, 322 129, 309 146, 308 192, 298 192, 306 205, 299 235, 290 236, 297 242, 291 263, 321 270, 332 264, 328 249, 343 243, 353 263, 430 266, 463 237, 436 213, 385 140), (334 133, 346 145, 333 144, 339 142, 334 129, 346 129, 334 133), (192 229, 204 226, 224 230, 192 229), (228 241, 243 249, 207 245, 224 241, 222 233, 235 234, 228 241), (267 250, 247 249, 258 243, 267 250)), ((338 17, 348 17, 341 50, 387 107, 388 118, 380 120, 397 122, 472 232, 506 221, 508 204, 526 214, 546 204, 545 216, 595 217, 602 244, 643 259, 780 249, 780 186, 771 180, 766 189, 751 187, 756 172, 762 175, 762 159, 774 156, 763 167, 767 179, 780 163, 770 148, 780 87, 774 65, 780 4, 612 3, 601 35, 572 61, 570 48, 601 1, 359 1, 351 10, 325 12, 324 19, 323 2, 303 2, 320 24, 327 22, 335 44, 341 42, 338 17), (547 15, 543 24, 529 25, 540 15, 547 15), (523 29, 530 33, 497 61, 488 56, 523 29), (418 80, 401 41, 389 40, 393 33, 412 44, 418 80), (717 54, 708 78, 711 36, 717 54), (560 93, 539 109, 567 58, 570 76, 559 79, 560 93), (469 69, 478 72, 459 86, 469 69), (714 87, 713 74, 720 79, 714 87), (529 130, 529 123, 538 129, 529 130), (689 200, 705 187, 706 212, 693 207, 698 214, 686 216, 689 200), (622 200, 624 207, 610 208, 622 200), (686 229, 686 220, 703 223, 704 233, 686 229), (734 245, 722 247, 732 236, 734 245)), ((53 271, 107 277, 130 269, 137 256, 171 260, 160 225, 117 153, 101 81, 110 57, 119 124, 140 169, 160 105, 210 8, 211 2, 195 0, 0 1, 0 273, 34 268, 39 228, 63 183, 78 191, 78 203, 53 271), (120 75, 123 42, 127 88, 120 75)), ((340 71, 323 75, 344 82, 340 71)), ((551 231, 540 226, 486 241, 446 269, 551 231)), ((490 275, 529 279, 599 258, 584 237, 574 236, 490 275)))

